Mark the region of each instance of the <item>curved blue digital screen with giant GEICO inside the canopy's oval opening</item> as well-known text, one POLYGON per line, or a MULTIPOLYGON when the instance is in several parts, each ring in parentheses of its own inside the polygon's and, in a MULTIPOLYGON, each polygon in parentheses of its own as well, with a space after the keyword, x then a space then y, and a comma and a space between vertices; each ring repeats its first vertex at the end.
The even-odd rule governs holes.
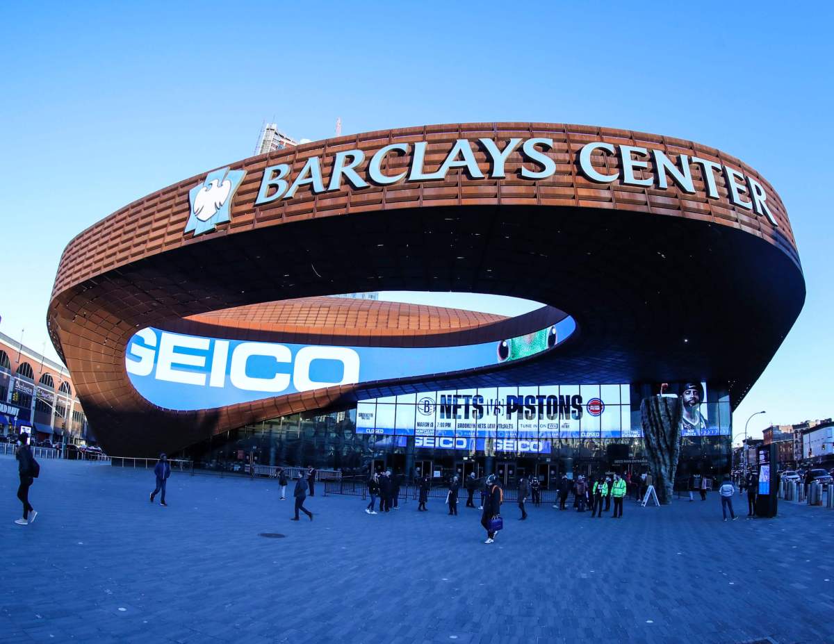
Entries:
MULTIPOLYGON (((153 405, 214 409, 324 387, 499 365, 551 350, 575 329, 569 316, 507 340, 399 348, 225 340, 148 327, 128 342, 125 367, 133 387, 153 405)), ((393 427, 394 420, 392 415, 385 423, 393 427)))

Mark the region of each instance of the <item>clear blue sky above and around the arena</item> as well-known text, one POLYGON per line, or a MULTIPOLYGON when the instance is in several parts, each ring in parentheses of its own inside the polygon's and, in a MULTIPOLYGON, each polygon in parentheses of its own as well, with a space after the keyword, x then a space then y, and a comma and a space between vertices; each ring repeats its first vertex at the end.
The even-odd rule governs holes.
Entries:
POLYGON ((736 430, 756 410, 754 434, 834 415, 830 3, 75 4, 0 7, 8 335, 54 355, 44 320, 68 240, 249 156, 264 119, 311 139, 339 116, 344 133, 591 123, 716 146, 776 187, 808 296, 736 430))

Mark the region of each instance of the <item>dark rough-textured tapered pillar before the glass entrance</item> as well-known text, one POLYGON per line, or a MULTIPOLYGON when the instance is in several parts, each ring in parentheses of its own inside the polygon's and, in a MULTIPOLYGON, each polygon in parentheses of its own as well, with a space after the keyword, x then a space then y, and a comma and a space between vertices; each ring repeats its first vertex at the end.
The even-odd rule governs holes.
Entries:
POLYGON ((654 475, 658 501, 671 503, 678 456, 681 455, 681 399, 662 395, 644 398, 640 413, 646 456, 654 475))

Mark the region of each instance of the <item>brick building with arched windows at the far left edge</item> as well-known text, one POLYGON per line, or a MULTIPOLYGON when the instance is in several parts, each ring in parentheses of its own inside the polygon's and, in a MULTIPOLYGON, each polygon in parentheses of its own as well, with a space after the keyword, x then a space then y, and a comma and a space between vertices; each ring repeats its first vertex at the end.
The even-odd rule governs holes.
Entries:
POLYGON ((35 440, 92 440, 67 367, 0 333, 0 435, 21 428, 35 440))

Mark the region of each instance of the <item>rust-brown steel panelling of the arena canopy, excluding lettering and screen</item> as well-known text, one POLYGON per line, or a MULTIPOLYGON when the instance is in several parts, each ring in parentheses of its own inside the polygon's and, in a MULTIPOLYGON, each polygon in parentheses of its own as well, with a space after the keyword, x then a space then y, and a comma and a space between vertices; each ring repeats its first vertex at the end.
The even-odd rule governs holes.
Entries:
MULTIPOLYGON (((743 398, 799 314, 805 284, 779 195, 739 159, 691 141, 555 123, 460 123, 400 128, 307 143, 229 165, 246 175, 230 220, 214 232, 183 234, 188 193, 203 175, 125 206, 64 250, 48 310, 53 344, 66 360, 93 430, 113 453, 173 450, 254 420, 347 405, 364 395, 490 381, 655 382, 697 377, 726 383, 743 398), (505 176, 477 141, 546 138, 555 164, 520 148, 505 176), (435 180, 401 181, 255 204, 264 170, 288 164, 288 180, 312 157, 329 184, 339 152, 361 150, 356 167, 384 146, 386 176, 408 173, 415 143, 436 170, 455 142, 470 139, 483 178, 452 168, 435 180), (761 185, 772 219, 734 204, 726 174, 693 165, 690 193, 625 183, 621 158, 596 150, 590 163, 619 178, 600 184, 580 168, 587 143, 662 150, 737 171, 761 185), (364 290, 453 290, 509 294, 544 306, 516 319, 469 311, 321 298, 364 290), (292 301, 286 301, 292 300, 292 301), (230 310, 227 310, 230 309, 230 310), (576 338, 536 358, 430 379, 348 385, 245 405, 162 410, 133 390, 125 347, 155 326, 223 337, 360 346, 453 346, 500 340, 550 324, 560 311, 576 338), (627 379, 627 380, 626 380, 627 379)), ((637 179, 658 176, 652 158, 637 179)))

